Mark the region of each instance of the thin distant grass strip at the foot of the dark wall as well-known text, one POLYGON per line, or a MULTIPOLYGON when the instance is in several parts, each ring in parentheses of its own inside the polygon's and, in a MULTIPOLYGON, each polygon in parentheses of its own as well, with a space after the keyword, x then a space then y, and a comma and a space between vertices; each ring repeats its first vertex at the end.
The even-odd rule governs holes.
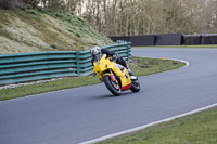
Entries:
POLYGON ((217 48, 217 44, 206 44, 206 45, 150 45, 150 47, 133 47, 133 48, 217 48))

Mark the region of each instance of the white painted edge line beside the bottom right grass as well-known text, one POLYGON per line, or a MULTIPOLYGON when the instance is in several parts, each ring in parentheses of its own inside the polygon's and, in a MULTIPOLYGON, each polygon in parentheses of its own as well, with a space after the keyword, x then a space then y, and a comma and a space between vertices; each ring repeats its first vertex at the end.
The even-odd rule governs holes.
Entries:
POLYGON ((123 135, 123 134, 137 132, 139 130, 145 129, 145 128, 154 126, 154 125, 158 125, 158 123, 162 123, 162 122, 167 122, 167 121, 170 121, 170 120, 174 120, 174 119, 177 119, 177 118, 181 118, 181 117, 184 117, 184 116, 188 116, 188 115, 193 115, 195 113, 199 113, 199 112, 202 112, 202 110, 205 110, 205 109, 209 109, 209 108, 213 108, 213 107, 216 107, 216 106, 217 106, 217 103, 213 104, 213 105, 209 105, 209 106, 205 106, 205 107, 195 109, 195 110, 191 110, 191 112, 178 115, 178 116, 166 118, 166 119, 163 119, 163 120, 159 120, 159 121, 154 121, 154 122, 151 122, 151 123, 148 123, 148 125, 143 125, 143 126, 140 126, 140 127, 137 127, 137 128, 132 128, 132 129, 129 129, 129 130, 125 130, 125 131, 120 131, 120 132, 117 132, 117 133, 114 133, 114 134, 105 135, 105 136, 98 138, 98 139, 94 139, 94 140, 90 140, 90 141, 87 141, 87 142, 82 142, 82 143, 79 143, 79 144, 93 144, 93 143, 105 141, 107 139, 112 139, 112 138, 119 136, 119 135, 123 135))

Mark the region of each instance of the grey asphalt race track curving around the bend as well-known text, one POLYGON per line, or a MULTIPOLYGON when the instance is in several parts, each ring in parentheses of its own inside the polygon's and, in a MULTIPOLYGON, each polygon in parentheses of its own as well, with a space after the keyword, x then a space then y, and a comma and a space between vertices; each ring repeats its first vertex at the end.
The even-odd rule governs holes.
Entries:
POLYGON ((190 66, 140 77, 113 96, 103 83, 0 102, 1 144, 77 144, 217 103, 217 49, 132 49, 190 66))

